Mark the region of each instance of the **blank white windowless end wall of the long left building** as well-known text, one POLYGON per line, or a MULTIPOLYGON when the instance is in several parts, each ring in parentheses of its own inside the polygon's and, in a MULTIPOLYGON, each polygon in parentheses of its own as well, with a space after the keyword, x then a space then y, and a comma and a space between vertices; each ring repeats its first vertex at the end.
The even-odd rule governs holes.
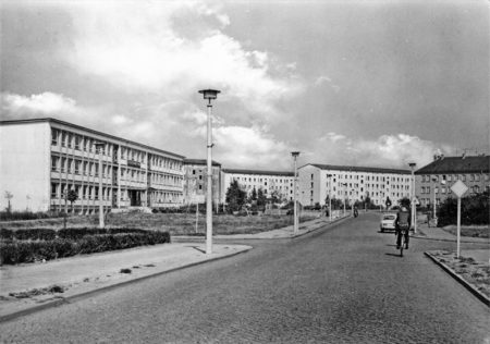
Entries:
POLYGON ((50 202, 49 123, 0 126, 0 207, 12 210, 47 211, 50 202))

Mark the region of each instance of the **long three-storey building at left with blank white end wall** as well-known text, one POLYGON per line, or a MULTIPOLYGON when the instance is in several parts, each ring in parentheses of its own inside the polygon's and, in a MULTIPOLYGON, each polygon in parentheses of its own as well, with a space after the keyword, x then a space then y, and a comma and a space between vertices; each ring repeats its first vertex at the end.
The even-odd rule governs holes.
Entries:
POLYGON ((184 157, 173 152, 54 119, 1 121, 0 143, 0 192, 12 210, 70 211, 70 189, 77 213, 98 211, 99 198, 107 210, 183 201, 184 157))

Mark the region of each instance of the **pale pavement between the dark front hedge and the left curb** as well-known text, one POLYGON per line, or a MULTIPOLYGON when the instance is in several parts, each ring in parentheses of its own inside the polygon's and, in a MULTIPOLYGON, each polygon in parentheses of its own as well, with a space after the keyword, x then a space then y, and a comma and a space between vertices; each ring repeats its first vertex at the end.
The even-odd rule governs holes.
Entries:
POLYGON ((245 245, 213 245, 212 254, 206 255, 205 245, 162 244, 45 263, 2 266, 0 321, 249 249, 245 245))

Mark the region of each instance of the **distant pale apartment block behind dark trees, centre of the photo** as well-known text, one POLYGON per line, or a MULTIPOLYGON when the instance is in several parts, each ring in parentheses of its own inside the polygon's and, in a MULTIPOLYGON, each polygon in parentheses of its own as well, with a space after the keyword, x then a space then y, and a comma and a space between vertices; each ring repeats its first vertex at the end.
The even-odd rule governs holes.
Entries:
POLYGON ((257 192, 261 189, 266 197, 275 195, 280 200, 293 199, 293 172, 223 169, 222 174, 221 201, 223 202, 233 181, 237 181, 247 195, 255 188, 257 192))

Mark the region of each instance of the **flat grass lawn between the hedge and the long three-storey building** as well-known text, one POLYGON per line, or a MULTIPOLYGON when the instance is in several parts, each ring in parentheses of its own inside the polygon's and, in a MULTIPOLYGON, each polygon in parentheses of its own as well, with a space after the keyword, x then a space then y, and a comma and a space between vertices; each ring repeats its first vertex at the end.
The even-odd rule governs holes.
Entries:
MULTIPOLYGON (((315 219, 303 217, 301 222, 315 219)), ((98 225, 98 216, 69 217, 68 228, 95 228, 98 225)), ((292 216, 250 216, 235 217, 220 214, 212 217, 213 234, 253 234, 267 232, 293 224, 292 216)), ((63 228, 63 219, 38 219, 26 221, 0 222, 3 229, 32 229, 32 228, 63 228)), ((108 228, 137 228, 144 230, 168 231, 171 235, 205 235, 206 216, 199 214, 196 232, 196 214, 186 213, 110 213, 106 218, 108 228)))

